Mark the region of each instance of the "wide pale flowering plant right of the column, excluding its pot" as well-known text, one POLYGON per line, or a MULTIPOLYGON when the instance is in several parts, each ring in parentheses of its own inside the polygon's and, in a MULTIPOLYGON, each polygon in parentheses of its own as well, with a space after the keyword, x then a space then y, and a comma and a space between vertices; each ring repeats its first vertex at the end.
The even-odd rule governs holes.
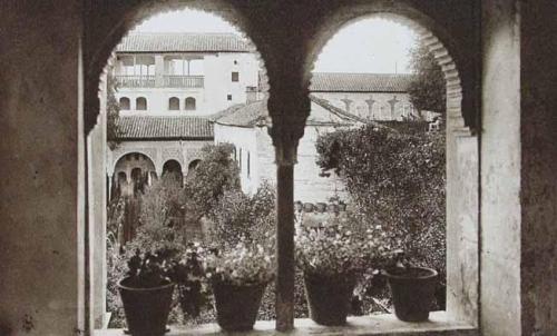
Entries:
POLYGON ((365 227, 353 214, 329 217, 296 235, 296 260, 306 274, 342 276, 383 268, 399 253, 381 226, 365 227))

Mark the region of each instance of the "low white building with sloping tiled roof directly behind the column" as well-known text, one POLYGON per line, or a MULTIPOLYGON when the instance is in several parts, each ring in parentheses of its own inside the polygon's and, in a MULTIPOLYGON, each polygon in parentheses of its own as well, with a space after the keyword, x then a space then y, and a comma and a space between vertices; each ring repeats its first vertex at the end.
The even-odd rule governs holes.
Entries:
MULTIPOLYGON (((294 197, 307 202, 324 202, 334 196, 345 198, 344 186, 338 177, 321 176, 321 169, 315 164, 315 142, 320 135, 339 128, 362 126, 365 120, 332 106, 324 99, 315 96, 311 99, 311 116, 297 148, 294 197)), ((214 119, 214 125, 215 142, 228 142, 235 147, 234 157, 240 166, 244 192, 255 192, 264 180, 276 182, 266 101, 231 107, 214 119)))

